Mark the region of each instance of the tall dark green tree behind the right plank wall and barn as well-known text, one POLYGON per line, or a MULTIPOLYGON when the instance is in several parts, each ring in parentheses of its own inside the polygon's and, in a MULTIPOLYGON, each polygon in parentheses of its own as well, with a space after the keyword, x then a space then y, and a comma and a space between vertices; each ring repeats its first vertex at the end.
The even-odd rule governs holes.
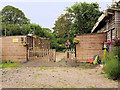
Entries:
POLYGON ((97 3, 75 3, 71 7, 67 7, 66 11, 71 15, 72 32, 75 34, 90 33, 98 17, 102 14, 99 11, 99 4, 97 3))

